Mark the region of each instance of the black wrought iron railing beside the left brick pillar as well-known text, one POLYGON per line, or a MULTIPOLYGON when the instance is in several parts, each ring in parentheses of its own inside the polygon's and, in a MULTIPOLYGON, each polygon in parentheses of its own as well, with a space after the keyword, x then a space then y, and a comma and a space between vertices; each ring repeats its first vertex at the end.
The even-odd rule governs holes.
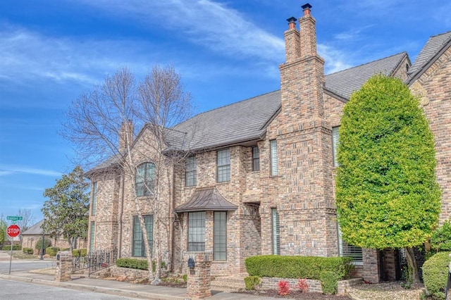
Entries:
POLYGON ((116 263, 118 259, 118 249, 97 250, 94 253, 89 253, 85 256, 77 256, 72 259, 73 272, 87 269, 88 275, 95 273, 110 265, 116 263))

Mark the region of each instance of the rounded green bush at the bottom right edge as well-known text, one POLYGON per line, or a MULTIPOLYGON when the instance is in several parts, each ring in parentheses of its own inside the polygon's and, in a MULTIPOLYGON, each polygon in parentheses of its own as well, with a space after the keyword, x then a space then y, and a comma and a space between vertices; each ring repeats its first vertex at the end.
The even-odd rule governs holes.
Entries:
POLYGON ((423 280, 427 291, 437 299, 445 299, 450 268, 450 252, 438 252, 423 264, 423 280))

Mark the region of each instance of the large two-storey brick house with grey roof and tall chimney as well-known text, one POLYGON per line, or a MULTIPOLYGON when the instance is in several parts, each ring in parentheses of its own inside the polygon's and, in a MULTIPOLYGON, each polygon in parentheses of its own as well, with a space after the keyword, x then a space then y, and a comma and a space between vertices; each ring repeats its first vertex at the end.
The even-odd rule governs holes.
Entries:
MULTIPOLYGON (((149 237, 159 233, 167 241, 163 261, 174 272, 185 271, 186 251, 211 251, 213 275, 244 272, 249 256, 280 254, 352 256, 355 275, 370 282, 396 279, 397 251, 360 249, 340 239, 334 200, 340 115, 352 92, 377 73, 400 77, 421 96, 435 135, 443 223, 451 214, 451 32, 431 37, 413 64, 402 52, 324 75, 316 20, 309 4, 302 8, 299 30, 296 19, 288 19, 280 90, 200 113, 173 128, 183 137, 174 135, 168 147, 190 155, 182 168, 168 165, 170 179, 159 181, 167 187, 167 201, 159 204, 164 230, 156 232, 146 204, 152 191, 128 177, 114 158, 87 173, 90 251, 117 246, 121 257, 144 256, 130 200, 137 187, 149 237)), ((130 155, 140 161, 137 173, 152 182, 148 138, 152 133, 144 126, 130 155)))

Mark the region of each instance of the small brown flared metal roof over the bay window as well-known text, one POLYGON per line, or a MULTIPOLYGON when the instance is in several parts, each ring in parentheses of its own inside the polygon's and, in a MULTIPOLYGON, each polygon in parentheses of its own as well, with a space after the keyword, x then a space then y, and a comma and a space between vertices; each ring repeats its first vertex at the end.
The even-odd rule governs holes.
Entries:
POLYGON ((235 211, 238 208, 230 203, 215 188, 196 189, 186 203, 175 208, 177 213, 192 211, 235 211))

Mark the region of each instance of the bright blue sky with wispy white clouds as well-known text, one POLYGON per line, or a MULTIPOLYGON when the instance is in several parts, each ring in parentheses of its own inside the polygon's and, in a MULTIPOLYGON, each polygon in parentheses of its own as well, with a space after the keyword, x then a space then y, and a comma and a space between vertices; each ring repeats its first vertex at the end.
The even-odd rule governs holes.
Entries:
MULTIPOLYGON (((326 73, 407 51, 451 30, 443 0, 310 1, 326 73)), ((299 0, 0 1, 0 215, 42 218, 44 189, 73 170, 60 135, 70 101, 128 66, 172 64, 197 111, 280 88, 299 0)))

